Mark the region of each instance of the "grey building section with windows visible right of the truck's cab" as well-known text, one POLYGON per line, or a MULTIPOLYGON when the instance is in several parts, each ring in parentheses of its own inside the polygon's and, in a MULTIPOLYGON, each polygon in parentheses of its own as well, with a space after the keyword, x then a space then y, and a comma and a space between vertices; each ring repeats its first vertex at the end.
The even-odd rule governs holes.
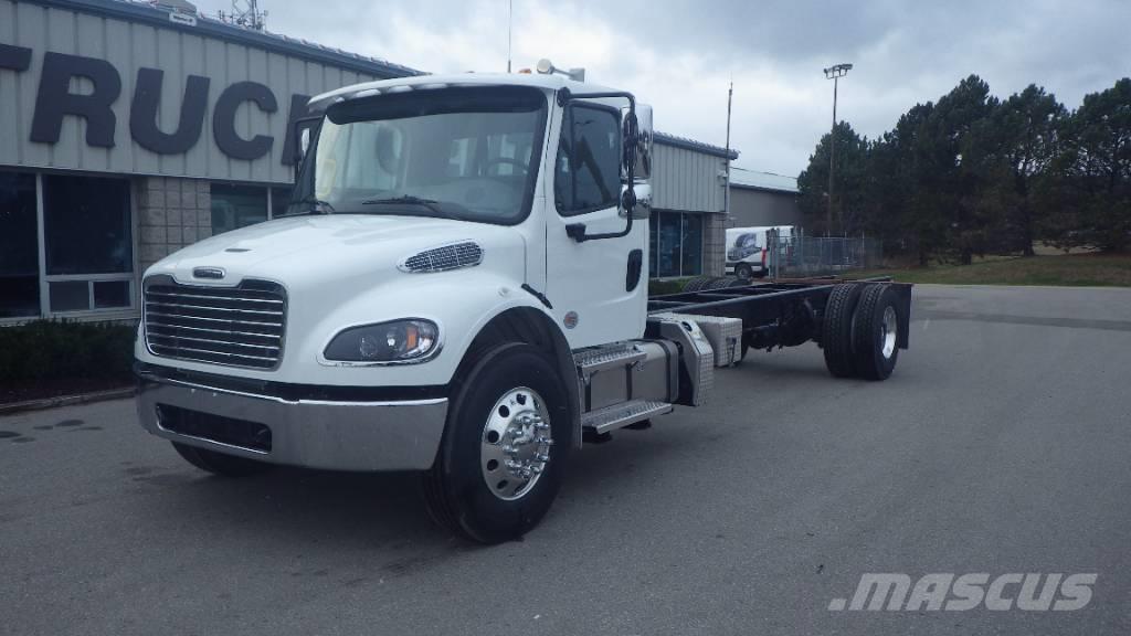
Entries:
POLYGON ((722 276, 726 164, 739 153, 663 132, 654 139, 648 270, 655 278, 722 276))

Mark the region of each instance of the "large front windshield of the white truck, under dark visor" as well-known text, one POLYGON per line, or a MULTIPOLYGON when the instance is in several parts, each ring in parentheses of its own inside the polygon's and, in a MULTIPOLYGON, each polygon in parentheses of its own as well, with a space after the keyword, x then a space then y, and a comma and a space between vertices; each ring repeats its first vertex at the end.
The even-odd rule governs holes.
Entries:
POLYGON ((288 213, 518 223, 534 196, 545 113, 542 92, 523 87, 426 89, 336 104, 288 213))

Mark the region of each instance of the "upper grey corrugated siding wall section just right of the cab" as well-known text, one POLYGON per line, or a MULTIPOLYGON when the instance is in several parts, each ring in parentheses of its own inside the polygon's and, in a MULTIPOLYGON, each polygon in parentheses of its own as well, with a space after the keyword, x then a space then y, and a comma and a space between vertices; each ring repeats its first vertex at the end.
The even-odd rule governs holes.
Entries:
POLYGON ((653 165, 653 206, 657 209, 723 210, 720 157, 656 144, 653 165))

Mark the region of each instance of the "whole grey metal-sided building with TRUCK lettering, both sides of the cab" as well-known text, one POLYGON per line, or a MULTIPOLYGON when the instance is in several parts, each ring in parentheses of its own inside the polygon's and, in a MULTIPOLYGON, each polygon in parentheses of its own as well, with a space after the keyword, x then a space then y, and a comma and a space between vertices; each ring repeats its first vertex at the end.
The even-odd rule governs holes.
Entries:
MULTIPOLYGON (((286 207, 309 96, 420 74, 155 5, 0 0, 0 323, 137 318, 146 267, 286 207)), ((653 269, 718 272, 726 153, 657 140, 653 269)))

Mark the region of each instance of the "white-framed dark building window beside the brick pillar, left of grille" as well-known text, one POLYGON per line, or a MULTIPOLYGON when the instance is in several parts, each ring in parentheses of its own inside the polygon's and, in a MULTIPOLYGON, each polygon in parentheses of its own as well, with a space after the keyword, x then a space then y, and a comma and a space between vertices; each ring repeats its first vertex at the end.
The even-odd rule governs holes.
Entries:
POLYGON ((131 308, 129 182, 57 174, 41 179, 46 313, 131 308))

